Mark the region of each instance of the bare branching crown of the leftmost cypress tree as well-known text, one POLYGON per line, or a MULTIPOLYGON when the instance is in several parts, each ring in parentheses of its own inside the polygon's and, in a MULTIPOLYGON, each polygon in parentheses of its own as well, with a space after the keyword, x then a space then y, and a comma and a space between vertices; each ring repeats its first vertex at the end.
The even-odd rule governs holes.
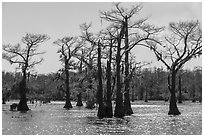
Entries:
POLYGON ((42 62, 42 59, 32 62, 32 57, 44 54, 44 52, 36 52, 37 47, 40 43, 48 39, 49 37, 47 35, 27 33, 26 36, 22 38, 22 42, 26 45, 25 48, 21 48, 20 44, 15 46, 3 45, 3 58, 8 60, 11 64, 19 64, 19 67, 22 67, 21 69, 25 72, 27 69, 42 62))

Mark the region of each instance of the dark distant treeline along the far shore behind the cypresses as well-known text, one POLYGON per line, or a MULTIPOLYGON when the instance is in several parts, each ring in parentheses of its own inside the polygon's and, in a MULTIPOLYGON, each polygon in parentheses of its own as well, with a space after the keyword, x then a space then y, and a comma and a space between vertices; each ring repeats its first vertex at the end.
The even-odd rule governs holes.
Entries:
MULTIPOLYGON (((93 93, 87 89, 88 80, 83 81, 83 85, 79 79, 82 74, 79 72, 70 72, 70 99, 77 101, 78 94, 81 94, 83 101, 88 101, 89 96, 93 93)), ((85 72, 83 72, 85 73, 85 72)), ((113 72, 114 73, 114 72, 113 72)), ((84 74, 85 75, 85 74, 84 74)), ((195 67, 193 70, 182 70, 181 75, 181 92, 182 101, 191 100, 202 101, 202 69, 195 67)), ((57 80, 59 73, 36 74, 29 76, 28 80, 28 100, 42 101, 65 101, 65 91, 61 90, 63 81, 57 80)), ((167 87, 168 72, 163 68, 143 68, 134 71, 132 80, 130 81, 130 99, 132 102, 136 100, 163 100, 169 98, 167 87)), ((18 80, 22 77, 19 72, 2 72, 2 91, 5 100, 19 99, 16 89, 18 80)), ((104 77, 104 81, 107 79, 104 77)), ((178 80, 177 80, 178 83, 178 80)), ((103 87, 105 87, 105 82, 103 87)), ((96 81, 93 83, 94 90, 97 90, 96 81)), ((124 85, 123 85, 124 86, 124 85)), ((115 88, 115 87, 114 87, 115 88)), ((177 84, 177 97, 179 96, 179 84, 177 84)), ((104 90, 106 90, 104 88, 104 90)), ((105 95, 106 96, 106 95, 105 95)), ((111 96, 114 101, 115 92, 111 96)))

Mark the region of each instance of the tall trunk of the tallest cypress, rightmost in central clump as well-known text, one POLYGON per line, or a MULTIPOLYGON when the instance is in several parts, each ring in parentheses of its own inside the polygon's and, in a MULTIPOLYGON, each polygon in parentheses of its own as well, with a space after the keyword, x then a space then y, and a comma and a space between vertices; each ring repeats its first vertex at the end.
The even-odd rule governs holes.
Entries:
POLYGON ((128 19, 125 17, 125 96, 124 96, 124 114, 131 115, 133 114, 131 104, 130 104, 130 81, 129 81, 129 45, 128 45, 128 19))

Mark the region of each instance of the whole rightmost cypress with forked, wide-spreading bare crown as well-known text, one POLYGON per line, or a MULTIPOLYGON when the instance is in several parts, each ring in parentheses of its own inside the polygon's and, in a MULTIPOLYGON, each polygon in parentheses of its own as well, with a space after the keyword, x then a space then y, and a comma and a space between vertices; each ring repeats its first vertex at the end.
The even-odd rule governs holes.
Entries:
POLYGON ((148 42, 148 46, 169 70, 168 88, 170 91, 169 115, 181 114, 177 108, 176 75, 182 66, 202 54, 202 31, 198 21, 169 24, 170 35, 164 43, 148 42))

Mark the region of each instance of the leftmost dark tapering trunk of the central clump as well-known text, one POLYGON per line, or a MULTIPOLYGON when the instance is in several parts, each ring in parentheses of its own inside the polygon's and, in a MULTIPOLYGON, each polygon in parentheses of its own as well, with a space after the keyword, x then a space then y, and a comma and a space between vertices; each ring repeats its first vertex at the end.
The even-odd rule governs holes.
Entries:
POLYGON ((103 105, 103 84, 102 84, 102 69, 101 69, 101 46, 100 42, 98 42, 98 92, 97 92, 97 100, 99 104, 98 108, 98 118, 104 118, 105 108, 103 105))

